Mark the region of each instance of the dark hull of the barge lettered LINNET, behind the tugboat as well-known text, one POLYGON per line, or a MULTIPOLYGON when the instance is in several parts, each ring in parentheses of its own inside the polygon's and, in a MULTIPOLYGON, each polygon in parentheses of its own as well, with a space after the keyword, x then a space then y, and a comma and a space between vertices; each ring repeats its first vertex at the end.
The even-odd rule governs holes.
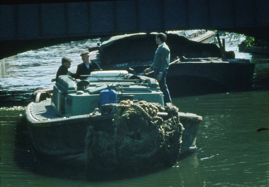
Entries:
MULTIPOLYGON (((141 73, 152 62, 104 65, 103 69, 134 69, 141 73)), ((249 91, 255 64, 245 59, 186 59, 169 66, 166 83, 171 96, 249 91)), ((146 75, 154 78, 154 74, 146 75)))

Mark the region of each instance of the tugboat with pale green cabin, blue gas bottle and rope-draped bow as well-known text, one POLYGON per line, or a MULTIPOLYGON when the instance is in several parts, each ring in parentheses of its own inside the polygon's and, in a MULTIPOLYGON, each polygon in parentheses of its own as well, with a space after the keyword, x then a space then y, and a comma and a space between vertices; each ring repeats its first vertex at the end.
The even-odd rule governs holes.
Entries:
POLYGON ((95 71, 78 80, 59 76, 53 89, 36 93, 26 118, 32 144, 43 155, 85 154, 88 169, 112 171, 135 163, 173 165, 179 154, 196 149, 202 117, 165 106, 155 79, 95 71))

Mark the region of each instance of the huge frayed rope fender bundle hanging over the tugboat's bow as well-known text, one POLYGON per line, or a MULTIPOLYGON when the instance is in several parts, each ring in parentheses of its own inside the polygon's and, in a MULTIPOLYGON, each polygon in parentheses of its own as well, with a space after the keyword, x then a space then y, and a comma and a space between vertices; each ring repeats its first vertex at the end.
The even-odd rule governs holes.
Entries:
POLYGON ((116 107, 111 132, 88 127, 85 138, 87 169, 142 169, 157 163, 173 165, 179 154, 183 126, 178 108, 165 109, 145 101, 121 101, 116 107), (157 112, 168 112, 163 120, 157 112))

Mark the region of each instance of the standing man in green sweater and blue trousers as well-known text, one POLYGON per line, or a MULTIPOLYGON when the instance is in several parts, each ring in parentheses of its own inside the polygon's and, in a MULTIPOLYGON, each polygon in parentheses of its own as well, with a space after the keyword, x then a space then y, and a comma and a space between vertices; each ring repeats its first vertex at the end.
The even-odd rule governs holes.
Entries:
POLYGON ((154 60, 151 66, 144 70, 144 73, 148 73, 154 70, 154 78, 158 80, 161 91, 164 94, 164 104, 172 103, 171 97, 166 85, 166 74, 170 62, 170 49, 165 44, 166 34, 159 33, 156 35, 155 41, 159 45, 155 52, 154 60))

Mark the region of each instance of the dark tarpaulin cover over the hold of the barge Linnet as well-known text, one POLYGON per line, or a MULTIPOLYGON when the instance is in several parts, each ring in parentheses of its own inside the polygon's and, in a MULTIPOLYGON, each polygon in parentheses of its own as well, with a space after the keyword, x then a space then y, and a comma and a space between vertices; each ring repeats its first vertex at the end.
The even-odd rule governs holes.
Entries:
MULTIPOLYGON (((138 33, 111 37, 99 48, 100 60, 104 64, 153 61, 154 53, 158 48, 155 42, 156 34, 138 33)), ((174 33, 167 34, 166 44, 170 48, 171 60, 177 56, 221 57, 221 51, 216 44, 191 41, 174 33)))

